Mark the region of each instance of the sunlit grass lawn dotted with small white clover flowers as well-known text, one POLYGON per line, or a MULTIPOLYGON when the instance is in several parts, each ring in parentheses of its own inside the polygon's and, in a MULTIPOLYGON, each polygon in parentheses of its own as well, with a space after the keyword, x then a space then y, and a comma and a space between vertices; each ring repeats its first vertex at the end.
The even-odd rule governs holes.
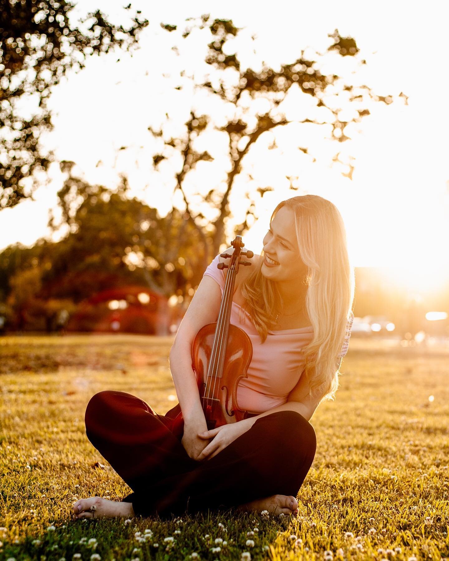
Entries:
POLYGON ((251 559, 323 560, 326 550, 335 560, 449 557, 449 350, 383 348, 355 338, 336 401, 323 403, 311 419, 317 454, 299 491, 297 518, 223 512, 169 521, 136 517, 127 525, 72 522, 78 498, 120 500, 131 492, 86 438, 86 404, 96 392, 118 389, 166 413, 176 403, 168 399, 175 394, 171 341, 0 338, 0 558, 68 561, 95 553, 171 560, 196 552, 213 561, 240 560, 248 551, 251 559), (153 535, 139 543, 135 532, 147 528, 153 535), (169 536, 172 545, 164 542, 169 536), (96 548, 83 538, 96 539, 96 548), (219 552, 211 549, 216 538, 227 542, 219 552))

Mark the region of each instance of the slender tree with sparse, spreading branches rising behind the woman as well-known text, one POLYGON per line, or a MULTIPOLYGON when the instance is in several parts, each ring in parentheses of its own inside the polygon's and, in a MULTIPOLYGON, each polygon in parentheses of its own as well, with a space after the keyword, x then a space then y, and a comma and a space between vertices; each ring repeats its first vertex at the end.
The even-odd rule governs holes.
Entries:
MULTIPOLYGON (((189 20, 193 20, 190 18, 189 20)), ((161 24, 168 33, 176 30, 175 25, 161 24)), ((149 127, 150 132, 155 137, 159 137, 161 149, 154 155, 154 166, 157 169, 159 163, 166 159, 173 159, 174 162, 181 161, 178 165, 178 171, 175 174, 176 190, 180 190, 185 204, 185 213, 189 222, 198 230, 204 244, 205 262, 203 270, 208 264, 208 260, 216 255, 225 241, 225 226, 230 216, 230 195, 235 186, 236 177, 244 172, 244 160, 249 154, 252 146, 256 144, 259 138, 268 131, 276 132, 279 127, 290 125, 291 121, 286 117, 282 108, 282 102, 286 99, 287 94, 293 89, 299 89, 302 94, 311 96, 316 100, 317 108, 320 108, 320 120, 315 118, 304 118, 300 123, 311 123, 314 126, 321 127, 329 125, 332 127, 332 139, 338 143, 349 140, 349 126, 353 123, 359 123, 361 119, 370 114, 366 104, 369 102, 383 102, 385 104, 392 103, 392 96, 380 96, 372 93, 368 86, 355 87, 351 84, 345 84, 340 76, 336 74, 322 75, 320 71, 319 59, 323 55, 317 53, 317 60, 309 60, 304 56, 304 50, 301 56, 290 63, 283 64, 280 70, 269 68, 263 63, 260 71, 252 68, 242 68, 237 54, 232 52, 232 39, 237 36, 240 29, 235 27, 232 20, 210 20, 209 15, 201 16, 193 24, 186 27, 182 33, 182 39, 186 39, 194 29, 208 29, 212 38, 208 44, 208 54, 205 62, 210 65, 212 77, 199 84, 194 83, 194 88, 198 90, 206 90, 209 94, 216 96, 228 108, 228 114, 231 117, 224 125, 216 125, 213 116, 200 113, 192 109, 189 119, 185 123, 184 135, 182 137, 173 138, 164 134, 165 125, 161 130, 153 130, 149 127), (231 54, 228 54, 231 52, 231 54), (257 109, 251 112, 251 107, 255 100, 264 99, 269 103, 269 110, 258 112, 257 109), (343 118, 342 109, 350 108, 352 110, 352 118, 343 118), (208 162, 212 160, 212 156, 208 151, 199 153, 195 150, 195 139, 206 130, 216 130, 227 135, 228 144, 228 171, 226 171, 226 180, 224 188, 212 187, 207 195, 203 196, 195 193, 195 204, 189 200, 185 189, 185 180, 190 171, 192 171, 198 162, 208 162), (200 202, 198 202, 200 198, 200 202), (215 212, 215 218, 206 220, 201 212, 204 205, 212 207, 215 212), (204 235, 204 227, 207 225, 209 236, 204 235)), ((333 43, 329 46, 328 51, 335 51, 341 57, 358 57, 359 48, 355 39, 351 37, 342 37, 338 30, 331 35, 333 43)), ((252 38, 254 40, 254 36, 252 38)), ((178 54, 177 45, 173 50, 178 54)), ((357 59, 360 65, 364 65, 363 59, 357 59)), ((185 72, 181 72, 181 76, 185 76, 185 72)), ((195 80, 194 76, 190 77, 195 80)), ((182 85, 176 86, 177 90, 182 89, 182 85)), ((404 96, 404 94, 400 94, 404 96)), ((404 96, 405 97, 405 96, 404 96)), ((167 115, 167 125, 168 125, 167 115)), ((168 128, 168 127, 167 127, 168 128)), ((271 148, 277 148, 276 141, 273 142, 271 148)), ((307 146, 298 146, 299 151, 303 154, 309 154, 307 146)), ((340 149, 341 150, 341 149, 340 149)), ((336 160, 339 160, 339 154, 336 154, 336 160)), ((313 156, 309 156, 313 158, 313 156)), ((313 161, 315 159, 313 158, 313 161)), ((175 164, 176 165, 176 164, 175 164)), ((347 165, 346 176, 351 180, 353 166, 351 160, 347 165)), ((252 177, 249 174, 249 180, 252 177)), ((219 178, 217 178, 219 180, 219 178)), ((291 189, 296 190, 294 186, 294 178, 288 177, 291 183, 291 189)), ((218 182, 218 181, 217 181, 218 182)), ((263 197, 266 191, 272 190, 271 186, 259 186, 257 188, 257 197, 263 197)), ((242 194, 243 195, 243 194, 242 194)), ((245 192, 247 202, 246 218, 242 224, 237 227, 236 233, 243 234, 250 226, 250 220, 255 218, 256 197, 249 192, 245 192)), ((241 197, 244 200, 244 197, 241 197)))

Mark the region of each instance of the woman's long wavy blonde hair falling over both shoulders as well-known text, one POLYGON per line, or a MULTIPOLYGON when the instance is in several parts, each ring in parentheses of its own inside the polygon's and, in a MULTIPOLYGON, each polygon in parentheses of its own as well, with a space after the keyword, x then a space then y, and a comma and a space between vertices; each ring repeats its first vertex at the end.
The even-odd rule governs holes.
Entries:
MULTIPOLYGON (((310 396, 334 399, 338 388, 337 356, 345 341, 354 300, 354 269, 347 252, 346 230, 337 207, 318 195, 301 195, 282 201, 271 215, 287 206, 295 213, 296 238, 308 269, 306 309, 313 339, 304 347, 310 396)), ((263 251, 262 251, 263 255, 263 251)), ((241 285, 242 306, 250 315, 262 343, 281 311, 277 285, 260 272, 259 260, 241 285)), ((251 268, 252 269, 252 268, 251 268)))

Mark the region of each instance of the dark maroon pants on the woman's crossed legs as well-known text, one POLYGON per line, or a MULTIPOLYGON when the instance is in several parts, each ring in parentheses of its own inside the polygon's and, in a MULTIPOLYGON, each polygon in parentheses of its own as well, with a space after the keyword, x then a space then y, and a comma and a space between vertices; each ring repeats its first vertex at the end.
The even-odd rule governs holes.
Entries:
MULTIPOLYGON (((296 496, 315 456, 313 426, 296 411, 256 419, 216 456, 190 458, 181 444, 179 404, 158 415, 129 393, 95 394, 85 413, 86 435, 130 486, 140 516, 227 509, 274 494, 296 496)), ((182 421, 181 421, 182 422, 182 421)))

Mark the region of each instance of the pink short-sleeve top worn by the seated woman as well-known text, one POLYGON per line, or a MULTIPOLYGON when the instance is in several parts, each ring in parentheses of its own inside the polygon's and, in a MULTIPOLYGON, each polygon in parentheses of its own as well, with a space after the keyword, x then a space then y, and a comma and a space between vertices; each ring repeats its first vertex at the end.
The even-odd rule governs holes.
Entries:
MULTIPOLYGON (((219 255, 210 263, 204 275, 218 283, 223 294, 224 272, 217 269, 219 255)), ((232 302, 231 319, 248 335, 253 345, 253 358, 248 367, 248 378, 237 386, 237 404, 240 409, 250 413, 263 413, 287 402, 288 394, 303 373, 305 362, 303 348, 313 337, 313 328, 281 329, 268 333, 264 343, 251 318, 239 304, 232 302)), ((345 344, 340 356, 345 356, 352 326, 352 318, 346 329, 345 344)))

